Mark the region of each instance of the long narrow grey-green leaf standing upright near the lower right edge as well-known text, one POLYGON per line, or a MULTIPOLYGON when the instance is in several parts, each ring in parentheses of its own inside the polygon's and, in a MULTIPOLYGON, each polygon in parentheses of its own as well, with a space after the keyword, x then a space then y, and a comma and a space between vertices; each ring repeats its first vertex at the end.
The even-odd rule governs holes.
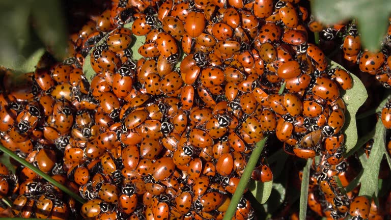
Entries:
POLYGON ((380 170, 380 162, 385 153, 385 128, 381 120, 376 123, 376 134, 374 136, 374 143, 371 154, 369 155, 367 163, 363 166, 364 172, 360 178, 361 187, 359 191, 360 196, 372 197, 378 194, 378 176, 380 170))

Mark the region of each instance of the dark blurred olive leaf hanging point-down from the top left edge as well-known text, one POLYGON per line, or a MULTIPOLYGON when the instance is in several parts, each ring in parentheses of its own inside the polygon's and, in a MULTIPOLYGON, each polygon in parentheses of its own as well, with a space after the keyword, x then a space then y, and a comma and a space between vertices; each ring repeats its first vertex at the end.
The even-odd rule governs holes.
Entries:
POLYGON ((66 57, 67 31, 59 0, 36 0, 31 4, 34 28, 39 38, 58 60, 66 57))

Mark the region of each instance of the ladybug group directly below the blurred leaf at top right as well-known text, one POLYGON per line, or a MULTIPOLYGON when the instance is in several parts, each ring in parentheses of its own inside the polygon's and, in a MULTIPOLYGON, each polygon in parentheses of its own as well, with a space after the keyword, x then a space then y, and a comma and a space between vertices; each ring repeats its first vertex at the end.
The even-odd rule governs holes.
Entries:
MULTIPOLYGON (((371 52, 361 48, 360 35, 354 21, 348 23, 324 26, 311 18, 308 28, 312 32, 319 32, 323 44, 322 48, 333 50, 338 59, 350 69, 357 72, 375 75, 377 81, 386 89, 391 89, 391 18, 388 19, 387 33, 381 42, 379 52, 371 52)), ((391 108, 387 103, 381 113, 383 125, 391 128, 391 108)))

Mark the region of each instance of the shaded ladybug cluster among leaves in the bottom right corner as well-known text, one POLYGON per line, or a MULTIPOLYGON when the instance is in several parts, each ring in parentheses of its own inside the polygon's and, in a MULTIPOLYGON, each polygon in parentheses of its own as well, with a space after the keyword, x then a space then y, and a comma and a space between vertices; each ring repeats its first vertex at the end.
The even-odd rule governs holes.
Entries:
MULTIPOLYGON (((389 136, 389 134, 388 134, 389 136)), ((389 138, 389 137, 388 137, 389 138)), ((362 150, 369 158, 374 141, 366 143, 362 150)), ((391 142, 387 143, 390 153, 391 142)), ((369 200, 365 196, 358 196, 360 186, 346 193, 347 187, 358 175, 362 168, 355 156, 344 159, 337 166, 329 166, 322 158, 319 162, 314 161, 311 166, 308 207, 309 219, 316 219, 316 216, 327 219, 345 219, 351 215, 352 219, 387 219, 391 214, 391 193, 387 189, 379 195, 378 201, 369 200), (338 177, 340 185, 335 177, 338 177)), ((299 171, 301 180, 302 173, 299 171)), ((386 159, 381 161, 379 179, 389 178, 389 169, 386 159)), ((298 219, 297 213, 290 215, 291 219, 298 219)))

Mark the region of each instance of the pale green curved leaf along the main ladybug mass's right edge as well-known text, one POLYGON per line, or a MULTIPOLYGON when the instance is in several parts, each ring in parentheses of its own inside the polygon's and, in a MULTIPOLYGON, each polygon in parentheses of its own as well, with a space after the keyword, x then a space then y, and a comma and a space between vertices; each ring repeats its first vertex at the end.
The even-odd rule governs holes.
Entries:
MULTIPOLYGON (((345 69, 343 66, 333 61, 330 61, 330 65, 331 68, 339 67, 345 69)), ((353 87, 350 90, 346 90, 346 93, 342 96, 342 99, 346 103, 345 125, 343 127, 343 132, 346 134, 346 152, 349 152, 354 148, 357 143, 356 113, 358 108, 364 104, 365 100, 368 98, 367 90, 361 80, 354 74, 350 74, 350 76, 353 79, 353 87)))

